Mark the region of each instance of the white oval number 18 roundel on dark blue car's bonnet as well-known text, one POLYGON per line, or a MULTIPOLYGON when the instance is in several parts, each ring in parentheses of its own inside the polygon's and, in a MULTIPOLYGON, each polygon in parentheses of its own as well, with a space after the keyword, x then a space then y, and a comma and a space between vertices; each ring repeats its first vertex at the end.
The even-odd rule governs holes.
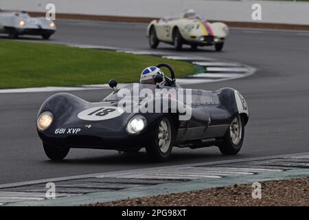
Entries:
POLYGON ((78 118, 88 121, 100 121, 116 118, 122 113, 124 113, 124 110, 117 107, 93 107, 78 113, 78 118))

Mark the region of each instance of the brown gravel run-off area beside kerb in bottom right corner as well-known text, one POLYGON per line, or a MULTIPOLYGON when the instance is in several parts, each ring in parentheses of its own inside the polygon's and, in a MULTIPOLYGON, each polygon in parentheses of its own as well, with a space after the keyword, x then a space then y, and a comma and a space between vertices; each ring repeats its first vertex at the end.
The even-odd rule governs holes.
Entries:
POLYGON ((309 177, 260 182, 261 199, 251 184, 126 199, 91 206, 309 206, 309 177), (256 194, 255 194, 256 195, 256 194))

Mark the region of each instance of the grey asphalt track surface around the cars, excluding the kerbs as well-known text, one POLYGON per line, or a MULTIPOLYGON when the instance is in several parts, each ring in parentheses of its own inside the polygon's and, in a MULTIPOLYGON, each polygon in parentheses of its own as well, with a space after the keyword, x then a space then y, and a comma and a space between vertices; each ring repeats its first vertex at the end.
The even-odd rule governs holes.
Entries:
MULTIPOLYGON (((145 24, 58 21, 57 25, 58 31, 51 41, 149 50, 145 24)), ((45 156, 36 133, 36 113, 54 93, 0 94, 0 184, 309 151, 308 32, 233 29, 222 52, 214 52, 213 47, 198 51, 187 47, 175 52, 165 44, 159 45, 158 50, 236 61, 258 69, 247 78, 186 86, 208 90, 233 87, 244 95, 251 115, 239 155, 223 156, 216 147, 174 148, 169 162, 154 164, 148 162, 144 151, 118 154, 72 149, 63 162, 52 162, 45 156)), ((109 92, 102 89, 71 93, 98 101, 109 92)))

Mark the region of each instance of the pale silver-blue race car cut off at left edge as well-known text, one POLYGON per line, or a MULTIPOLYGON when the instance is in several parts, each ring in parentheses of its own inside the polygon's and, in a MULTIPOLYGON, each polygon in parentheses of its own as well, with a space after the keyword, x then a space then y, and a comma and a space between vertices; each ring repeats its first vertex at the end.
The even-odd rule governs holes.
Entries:
POLYGON ((45 17, 32 18, 26 12, 4 12, 0 10, 0 33, 9 34, 10 38, 19 35, 41 35, 49 39, 56 32, 56 25, 45 17))

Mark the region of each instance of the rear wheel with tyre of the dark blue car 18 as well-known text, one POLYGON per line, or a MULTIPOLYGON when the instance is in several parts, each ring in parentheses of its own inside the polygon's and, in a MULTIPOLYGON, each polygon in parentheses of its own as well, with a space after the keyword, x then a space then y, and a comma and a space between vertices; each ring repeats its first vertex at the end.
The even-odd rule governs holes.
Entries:
POLYGON ((224 155, 236 155, 244 142, 244 120, 240 114, 229 124, 229 129, 223 138, 223 142, 219 144, 220 152, 224 155))

